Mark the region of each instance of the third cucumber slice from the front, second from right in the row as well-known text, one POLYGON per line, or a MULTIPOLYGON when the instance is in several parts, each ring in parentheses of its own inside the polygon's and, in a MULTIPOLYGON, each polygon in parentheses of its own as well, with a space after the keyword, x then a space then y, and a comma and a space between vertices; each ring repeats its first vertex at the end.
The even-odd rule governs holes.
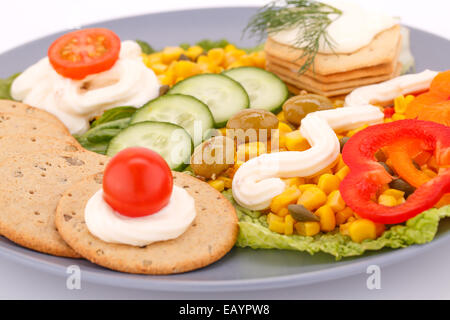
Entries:
POLYGON ((248 108, 249 99, 244 88, 222 74, 200 74, 178 82, 169 94, 193 96, 205 103, 214 117, 216 128, 226 125, 235 113, 248 108))

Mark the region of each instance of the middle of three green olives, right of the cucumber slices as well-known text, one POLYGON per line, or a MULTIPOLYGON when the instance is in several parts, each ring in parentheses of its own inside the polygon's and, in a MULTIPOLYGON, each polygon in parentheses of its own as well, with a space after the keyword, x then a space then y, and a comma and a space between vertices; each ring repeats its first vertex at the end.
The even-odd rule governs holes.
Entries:
MULTIPOLYGON (((239 134, 238 129, 242 129, 241 134, 245 137, 242 137, 241 141, 266 140, 270 139, 271 131, 278 128, 278 123, 278 118, 272 112, 262 109, 245 109, 228 120, 227 129, 235 130, 235 135, 239 134)), ((241 137, 236 138, 239 140, 241 137)))

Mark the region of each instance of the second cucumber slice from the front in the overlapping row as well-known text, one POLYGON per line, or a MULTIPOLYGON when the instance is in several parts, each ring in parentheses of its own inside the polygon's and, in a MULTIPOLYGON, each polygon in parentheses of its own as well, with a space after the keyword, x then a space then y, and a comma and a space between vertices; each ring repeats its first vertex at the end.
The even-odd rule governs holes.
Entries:
POLYGON ((194 146, 203 141, 204 134, 214 127, 214 119, 206 104, 184 94, 168 94, 139 108, 130 123, 143 121, 170 122, 183 127, 194 140, 194 146))

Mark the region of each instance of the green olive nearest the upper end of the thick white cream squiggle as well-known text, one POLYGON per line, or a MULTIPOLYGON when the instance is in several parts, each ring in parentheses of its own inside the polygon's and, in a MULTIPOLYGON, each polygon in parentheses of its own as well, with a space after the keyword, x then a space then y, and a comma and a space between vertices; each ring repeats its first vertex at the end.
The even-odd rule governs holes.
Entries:
POLYGON ((330 99, 317 94, 298 95, 290 98, 283 105, 286 120, 297 126, 309 113, 333 108, 333 102, 330 99))

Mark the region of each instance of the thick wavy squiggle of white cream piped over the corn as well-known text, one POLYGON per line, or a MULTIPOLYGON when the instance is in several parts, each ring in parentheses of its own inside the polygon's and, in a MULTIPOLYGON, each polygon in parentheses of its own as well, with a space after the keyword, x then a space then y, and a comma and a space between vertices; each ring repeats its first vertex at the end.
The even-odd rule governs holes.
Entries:
POLYGON ((329 167, 339 156, 336 131, 352 130, 363 124, 377 124, 384 114, 374 106, 317 111, 306 116, 300 133, 311 148, 263 154, 242 164, 233 177, 233 197, 250 210, 264 210, 286 184, 281 178, 310 177, 329 167))

